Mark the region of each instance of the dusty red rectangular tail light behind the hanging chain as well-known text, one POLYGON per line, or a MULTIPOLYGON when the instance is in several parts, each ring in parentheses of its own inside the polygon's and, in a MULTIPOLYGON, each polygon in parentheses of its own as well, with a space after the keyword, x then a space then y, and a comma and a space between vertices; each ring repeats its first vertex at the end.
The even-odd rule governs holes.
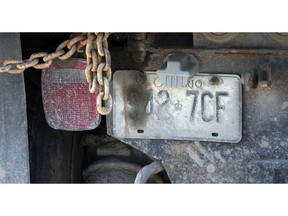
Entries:
POLYGON ((82 131, 100 123, 96 98, 85 77, 86 61, 53 61, 42 73, 42 100, 47 123, 54 129, 82 131))

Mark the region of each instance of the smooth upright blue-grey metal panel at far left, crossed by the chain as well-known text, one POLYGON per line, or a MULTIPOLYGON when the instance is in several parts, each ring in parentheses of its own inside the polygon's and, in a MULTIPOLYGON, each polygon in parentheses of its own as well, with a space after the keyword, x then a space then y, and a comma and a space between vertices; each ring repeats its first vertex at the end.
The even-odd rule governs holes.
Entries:
MULTIPOLYGON (((22 59, 19 34, 0 34, 0 61, 22 59)), ((29 183, 23 74, 0 74, 0 182, 29 183)))

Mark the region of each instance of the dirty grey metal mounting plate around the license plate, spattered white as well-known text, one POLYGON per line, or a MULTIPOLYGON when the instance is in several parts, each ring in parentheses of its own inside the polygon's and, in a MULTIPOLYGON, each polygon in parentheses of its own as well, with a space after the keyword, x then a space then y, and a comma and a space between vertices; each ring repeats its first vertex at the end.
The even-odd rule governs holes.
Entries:
MULTIPOLYGON (((179 51, 195 55, 199 60, 200 73, 214 71, 238 74, 244 84, 243 131, 239 143, 121 140, 161 160, 173 183, 255 182, 253 172, 250 171, 254 161, 260 160, 270 164, 275 160, 288 160, 288 52, 260 48, 259 46, 258 49, 151 49, 153 58, 151 57, 149 64, 141 68, 156 71, 167 54, 179 51), (258 80, 256 75, 260 72, 270 73, 271 76, 269 78, 267 75, 258 80), (265 80, 267 85, 258 84, 258 81, 265 80)), ((131 69, 133 68, 131 65, 131 69)), ((109 125, 112 125, 111 121, 110 116, 108 131, 113 135, 112 128, 109 128, 109 125)), ((279 175, 277 173, 280 167, 283 169, 281 173, 285 175, 287 171, 285 166, 282 164, 281 167, 275 165, 275 168, 273 166, 263 168, 264 175, 262 177, 259 175, 257 182, 267 182, 267 176, 270 182, 271 179, 274 183, 283 182, 277 178, 279 175)))

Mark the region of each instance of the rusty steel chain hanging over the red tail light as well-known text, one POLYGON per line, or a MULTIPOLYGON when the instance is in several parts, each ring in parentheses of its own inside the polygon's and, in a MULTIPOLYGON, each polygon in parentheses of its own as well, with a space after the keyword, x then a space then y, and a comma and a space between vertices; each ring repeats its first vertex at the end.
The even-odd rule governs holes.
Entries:
POLYGON ((85 76, 89 83, 90 93, 94 93, 99 86, 97 96, 97 110, 101 115, 107 115, 112 110, 112 96, 109 82, 112 78, 111 56, 108 50, 110 33, 82 33, 61 43, 53 53, 38 52, 26 60, 6 60, 0 65, 0 73, 19 74, 25 69, 48 68, 54 59, 66 60, 76 52, 83 51, 86 55, 87 66, 85 76))

